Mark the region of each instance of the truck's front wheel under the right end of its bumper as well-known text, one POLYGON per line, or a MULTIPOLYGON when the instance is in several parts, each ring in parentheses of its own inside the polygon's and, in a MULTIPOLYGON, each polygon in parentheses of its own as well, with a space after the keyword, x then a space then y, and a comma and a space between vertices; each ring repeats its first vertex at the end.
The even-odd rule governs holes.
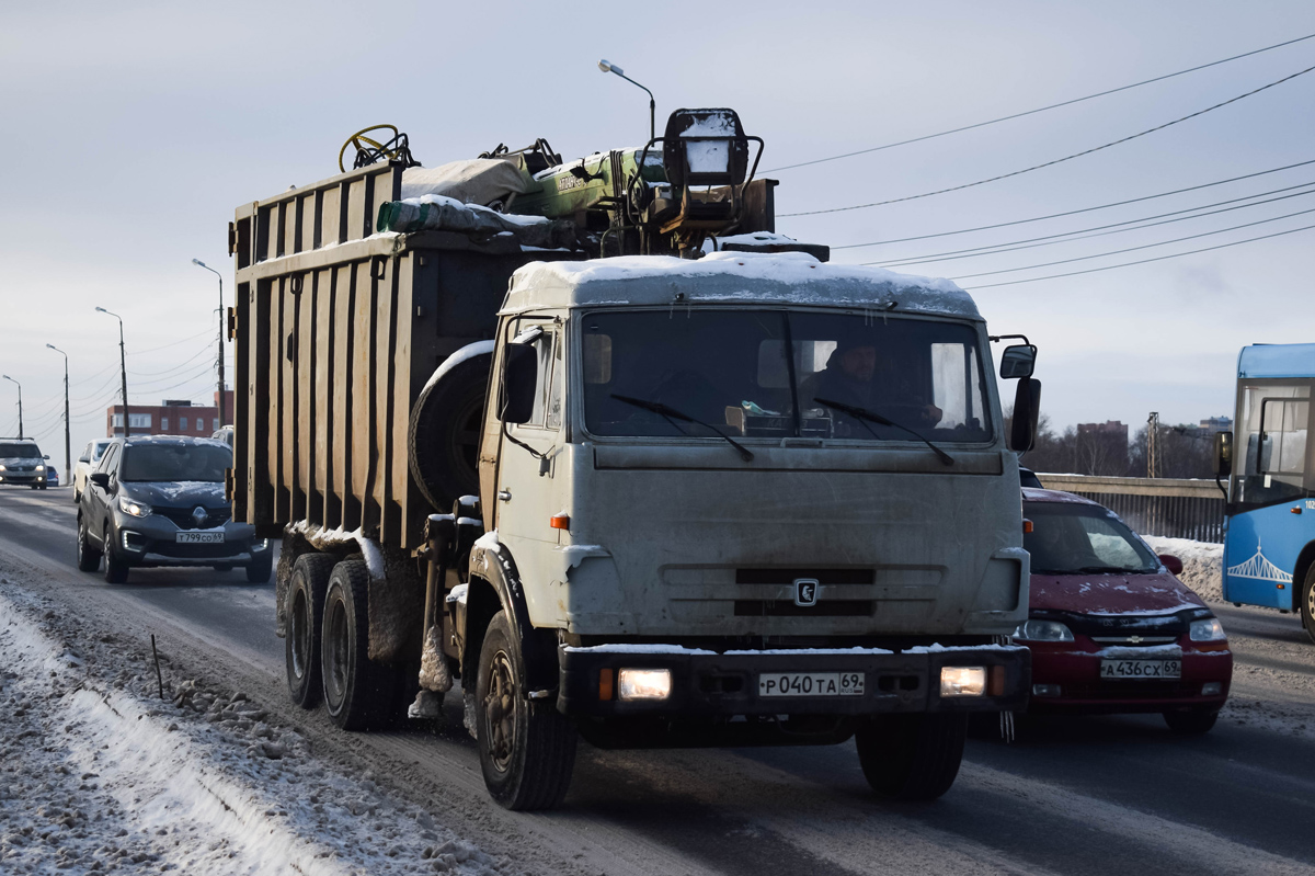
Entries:
POLYGON ((967 713, 873 718, 853 739, 868 784, 893 800, 935 800, 959 775, 968 738, 967 713))

